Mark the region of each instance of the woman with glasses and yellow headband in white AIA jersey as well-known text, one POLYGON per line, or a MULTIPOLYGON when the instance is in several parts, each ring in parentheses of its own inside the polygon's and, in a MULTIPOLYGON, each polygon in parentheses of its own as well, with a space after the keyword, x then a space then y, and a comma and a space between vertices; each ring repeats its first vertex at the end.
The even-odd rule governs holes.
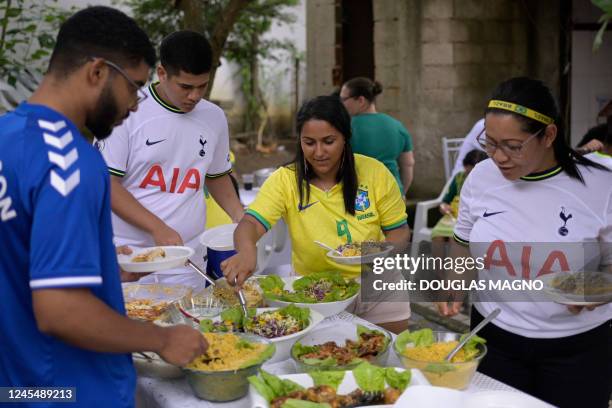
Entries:
MULTIPOLYGON (((576 254, 589 251, 600 270, 610 271, 612 173, 567 146, 550 90, 511 79, 495 90, 485 114, 478 140, 491 159, 461 190, 453 251, 463 244, 464 256, 486 254, 480 277, 530 281, 583 267, 585 257, 576 254)), ((481 332, 489 350, 480 371, 561 407, 608 407, 612 305, 500 301, 487 291, 478 300, 472 326, 502 311, 481 332)), ((446 315, 459 309, 458 302, 438 306, 446 315)))

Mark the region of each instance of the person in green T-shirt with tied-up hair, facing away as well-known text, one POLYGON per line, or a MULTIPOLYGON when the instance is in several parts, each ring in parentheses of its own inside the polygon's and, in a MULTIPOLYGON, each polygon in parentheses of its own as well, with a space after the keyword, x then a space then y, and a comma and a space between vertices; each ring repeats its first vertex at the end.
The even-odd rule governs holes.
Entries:
POLYGON ((352 117, 353 152, 382 162, 405 197, 414 175, 412 136, 397 119, 376 110, 376 97, 382 85, 368 78, 357 77, 344 83, 340 100, 352 117))

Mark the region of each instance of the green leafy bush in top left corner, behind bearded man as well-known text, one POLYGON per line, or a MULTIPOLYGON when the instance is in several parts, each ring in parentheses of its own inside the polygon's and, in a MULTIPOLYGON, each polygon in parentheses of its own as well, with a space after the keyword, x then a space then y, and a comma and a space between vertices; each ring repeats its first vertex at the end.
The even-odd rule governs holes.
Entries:
POLYGON ((20 73, 42 74, 60 24, 73 12, 58 0, 5 0, 0 6, 0 77, 15 86, 20 73), (41 23, 42 22, 42 23, 41 23))

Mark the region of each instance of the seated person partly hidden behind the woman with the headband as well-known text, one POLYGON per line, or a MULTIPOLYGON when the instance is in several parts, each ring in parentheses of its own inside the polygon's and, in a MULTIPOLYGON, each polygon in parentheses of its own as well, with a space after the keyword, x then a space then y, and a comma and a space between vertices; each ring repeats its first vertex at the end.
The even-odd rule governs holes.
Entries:
POLYGON ((459 194, 461 192, 461 187, 463 187, 465 179, 470 174, 474 166, 486 158, 487 154, 480 149, 471 150, 463 158, 464 170, 457 173, 457 175, 453 177, 453 181, 451 182, 448 191, 442 198, 442 203, 439 207, 440 212, 442 213, 442 218, 431 230, 432 242, 446 242, 453 237, 453 229, 455 228, 457 213, 459 212, 459 194))

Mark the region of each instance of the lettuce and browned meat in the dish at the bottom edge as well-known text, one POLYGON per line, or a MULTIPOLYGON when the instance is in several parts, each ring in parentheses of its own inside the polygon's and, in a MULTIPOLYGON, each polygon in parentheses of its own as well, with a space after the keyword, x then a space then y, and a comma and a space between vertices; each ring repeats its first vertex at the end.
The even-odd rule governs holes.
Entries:
POLYGON ((410 370, 377 367, 364 362, 353 370, 357 387, 349 394, 338 394, 345 371, 309 373, 313 386, 304 388, 291 380, 282 379, 264 370, 251 376, 249 382, 271 408, 325 408, 393 404, 408 387, 410 370))

